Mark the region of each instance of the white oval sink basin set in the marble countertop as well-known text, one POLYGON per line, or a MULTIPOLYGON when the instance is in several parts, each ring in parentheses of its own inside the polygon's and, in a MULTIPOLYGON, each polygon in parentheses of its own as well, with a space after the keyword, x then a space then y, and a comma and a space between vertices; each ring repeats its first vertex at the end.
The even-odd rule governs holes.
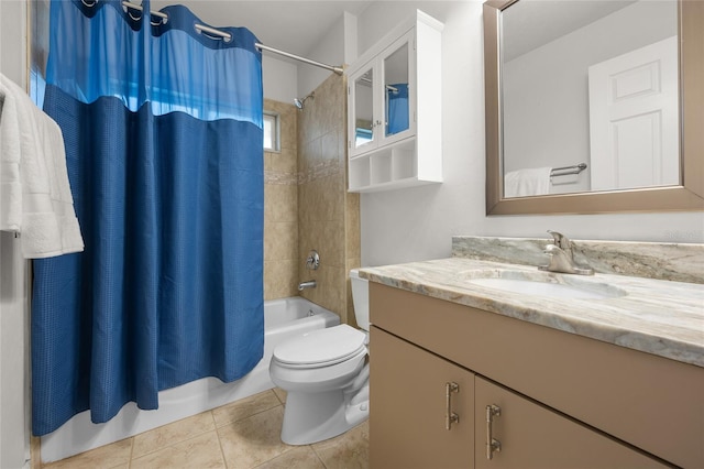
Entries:
MULTIPOLYGON (((588 279, 588 277, 587 277, 588 279)), ((620 288, 573 275, 556 275, 518 271, 491 271, 469 282, 488 288, 553 298, 605 299, 626 295, 620 288)))

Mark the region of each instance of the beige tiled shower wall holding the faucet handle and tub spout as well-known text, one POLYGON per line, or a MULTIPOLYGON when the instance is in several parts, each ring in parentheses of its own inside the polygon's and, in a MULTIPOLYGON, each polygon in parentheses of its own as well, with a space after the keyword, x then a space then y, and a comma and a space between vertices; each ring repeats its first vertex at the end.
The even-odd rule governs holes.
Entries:
POLYGON ((301 296, 354 324, 348 271, 360 264, 360 204, 346 192, 345 89, 344 77, 331 75, 298 112, 298 269, 300 281, 318 283, 301 296), (312 249, 317 271, 305 266, 312 249))

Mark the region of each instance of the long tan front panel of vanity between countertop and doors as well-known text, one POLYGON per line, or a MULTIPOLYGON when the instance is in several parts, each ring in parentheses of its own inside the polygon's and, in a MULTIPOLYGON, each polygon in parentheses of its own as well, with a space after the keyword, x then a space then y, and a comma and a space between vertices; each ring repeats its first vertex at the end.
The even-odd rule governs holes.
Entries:
POLYGON ((370 283, 371 320, 678 466, 704 467, 704 369, 370 283))

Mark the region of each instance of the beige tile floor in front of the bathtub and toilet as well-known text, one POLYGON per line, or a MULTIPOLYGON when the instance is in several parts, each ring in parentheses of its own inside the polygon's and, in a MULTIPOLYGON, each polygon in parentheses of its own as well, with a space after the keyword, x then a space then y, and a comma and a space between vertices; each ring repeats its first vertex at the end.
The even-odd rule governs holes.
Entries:
POLYGON ((369 424, 308 446, 280 441, 285 392, 265 391, 42 469, 366 469, 369 424))

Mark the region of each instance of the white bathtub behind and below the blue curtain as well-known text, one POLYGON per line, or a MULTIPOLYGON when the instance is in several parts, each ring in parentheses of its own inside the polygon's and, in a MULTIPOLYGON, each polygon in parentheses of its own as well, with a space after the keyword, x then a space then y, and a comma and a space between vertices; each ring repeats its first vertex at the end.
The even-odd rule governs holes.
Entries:
POLYGON ((42 437, 42 461, 56 461, 272 389, 268 362, 276 345, 338 324, 337 314, 298 296, 265 302, 264 357, 246 377, 232 383, 205 378, 162 391, 157 411, 141 411, 131 402, 105 424, 94 424, 90 413, 82 412, 42 437))

